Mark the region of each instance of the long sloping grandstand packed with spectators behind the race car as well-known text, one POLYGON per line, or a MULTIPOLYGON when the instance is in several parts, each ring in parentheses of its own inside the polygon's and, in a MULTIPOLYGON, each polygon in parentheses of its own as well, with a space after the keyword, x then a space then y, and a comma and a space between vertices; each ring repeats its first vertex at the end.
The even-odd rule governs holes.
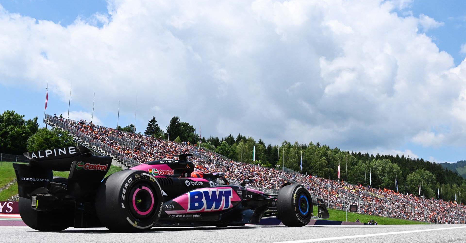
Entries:
POLYGON ((226 177, 233 182, 253 179, 254 183, 248 184, 249 187, 270 194, 276 194, 286 181, 295 181, 306 186, 313 199, 322 198, 326 201, 329 208, 345 209, 345 206, 355 204, 358 213, 442 224, 465 223, 466 219, 466 207, 462 204, 236 162, 206 148, 118 131, 85 120, 74 121, 45 115, 44 122, 69 132, 79 144, 96 153, 111 156, 115 164, 123 167, 133 167, 152 160, 176 159, 174 154, 192 153, 194 156, 191 160, 198 169, 225 172, 226 177))

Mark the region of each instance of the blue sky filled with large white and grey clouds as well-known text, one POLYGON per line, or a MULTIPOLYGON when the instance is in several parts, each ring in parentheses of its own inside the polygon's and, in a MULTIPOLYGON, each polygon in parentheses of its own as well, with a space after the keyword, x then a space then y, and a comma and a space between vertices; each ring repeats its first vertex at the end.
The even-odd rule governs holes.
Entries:
POLYGON ((466 2, 0 0, 0 110, 466 160, 466 2), (92 113, 95 95, 95 109, 92 113), (119 109, 119 118, 117 117, 119 109), (136 122, 135 122, 136 121, 136 122))

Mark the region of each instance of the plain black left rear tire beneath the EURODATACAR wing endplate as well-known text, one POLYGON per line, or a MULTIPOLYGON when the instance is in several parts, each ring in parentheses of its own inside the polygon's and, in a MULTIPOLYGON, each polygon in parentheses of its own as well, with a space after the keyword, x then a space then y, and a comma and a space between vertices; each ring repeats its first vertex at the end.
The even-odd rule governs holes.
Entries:
POLYGON ((25 197, 20 197, 18 207, 23 222, 35 230, 62 231, 73 224, 73 218, 68 217, 73 212, 60 209, 39 212, 31 208, 31 199, 25 197))

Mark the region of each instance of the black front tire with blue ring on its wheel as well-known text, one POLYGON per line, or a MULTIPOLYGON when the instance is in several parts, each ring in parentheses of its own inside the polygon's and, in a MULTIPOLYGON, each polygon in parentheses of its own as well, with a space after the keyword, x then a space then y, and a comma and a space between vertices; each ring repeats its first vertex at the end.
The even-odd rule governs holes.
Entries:
POLYGON ((302 227, 312 218, 312 198, 299 184, 282 187, 278 192, 277 216, 288 227, 302 227))

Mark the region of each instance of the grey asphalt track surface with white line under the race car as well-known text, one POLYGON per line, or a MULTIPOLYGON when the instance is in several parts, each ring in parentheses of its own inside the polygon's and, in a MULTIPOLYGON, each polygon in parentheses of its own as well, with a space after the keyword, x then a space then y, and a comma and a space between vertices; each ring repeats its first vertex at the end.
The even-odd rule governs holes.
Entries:
POLYGON ((144 233, 114 233, 104 228, 39 232, 27 226, 1 226, 0 242, 167 242, 167 243, 466 243, 466 225, 338 225, 152 228, 144 233))

